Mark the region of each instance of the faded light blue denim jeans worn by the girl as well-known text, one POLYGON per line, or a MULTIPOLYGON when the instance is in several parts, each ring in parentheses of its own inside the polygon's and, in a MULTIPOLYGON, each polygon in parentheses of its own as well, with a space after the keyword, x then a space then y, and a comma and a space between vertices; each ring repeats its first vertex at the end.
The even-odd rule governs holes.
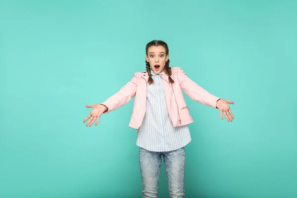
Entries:
POLYGON ((139 164, 143 183, 143 198, 157 198, 162 156, 170 198, 184 198, 185 148, 166 152, 139 149, 139 164))

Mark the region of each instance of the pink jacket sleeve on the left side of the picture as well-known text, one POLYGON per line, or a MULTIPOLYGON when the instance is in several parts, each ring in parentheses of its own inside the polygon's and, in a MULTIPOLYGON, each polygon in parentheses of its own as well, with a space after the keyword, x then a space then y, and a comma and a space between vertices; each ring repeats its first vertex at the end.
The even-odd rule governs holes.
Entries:
POLYGON ((117 93, 106 99, 104 102, 100 103, 108 108, 106 111, 104 111, 104 113, 109 113, 110 111, 113 111, 126 104, 135 96, 136 90, 137 73, 135 73, 131 81, 128 82, 124 87, 122 87, 117 93))

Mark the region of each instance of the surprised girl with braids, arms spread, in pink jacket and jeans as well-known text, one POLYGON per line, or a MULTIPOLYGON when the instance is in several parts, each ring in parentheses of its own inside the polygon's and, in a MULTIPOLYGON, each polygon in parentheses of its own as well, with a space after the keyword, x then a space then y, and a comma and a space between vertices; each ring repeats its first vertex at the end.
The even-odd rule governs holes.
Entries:
POLYGON ((106 101, 86 105, 93 110, 86 126, 96 126, 102 113, 108 113, 135 97, 129 127, 137 129, 143 198, 157 198, 160 165, 164 161, 170 198, 184 198, 185 149, 191 141, 188 124, 193 122, 182 90, 193 100, 218 108, 232 122, 227 103, 193 82, 180 67, 169 67, 169 49, 163 41, 146 47, 146 72, 136 72, 131 81, 106 101))

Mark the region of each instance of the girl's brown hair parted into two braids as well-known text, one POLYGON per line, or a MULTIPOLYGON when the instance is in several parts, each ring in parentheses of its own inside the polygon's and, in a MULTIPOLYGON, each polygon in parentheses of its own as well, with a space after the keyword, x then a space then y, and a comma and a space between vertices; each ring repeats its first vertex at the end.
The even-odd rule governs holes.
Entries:
MULTIPOLYGON (((166 55, 169 54, 169 49, 168 49, 168 45, 164 42, 164 41, 160 41, 160 40, 153 40, 151 42, 149 42, 147 44, 147 47, 146 47, 146 54, 148 55, 148 48, 150 46, 163 46, 165 49, 166 49, 166 55)), ((165 74, 168 75, 168 81, 169 83, 173 84, 174 83, 174 80, 170 77, 171 74, 172 74, 172 71, 171 71, 171 67, 169 67, 169 59, 165 62, 165 67, 164 67, 164 72, 165 74)), ((151 78, 151 73, 150 73, 150 65, 149 65, 149 62, 146 60, 146 65, 147 65, 147 72, 148 72, 148 84, 153 84, 153 79, 151 78)))

